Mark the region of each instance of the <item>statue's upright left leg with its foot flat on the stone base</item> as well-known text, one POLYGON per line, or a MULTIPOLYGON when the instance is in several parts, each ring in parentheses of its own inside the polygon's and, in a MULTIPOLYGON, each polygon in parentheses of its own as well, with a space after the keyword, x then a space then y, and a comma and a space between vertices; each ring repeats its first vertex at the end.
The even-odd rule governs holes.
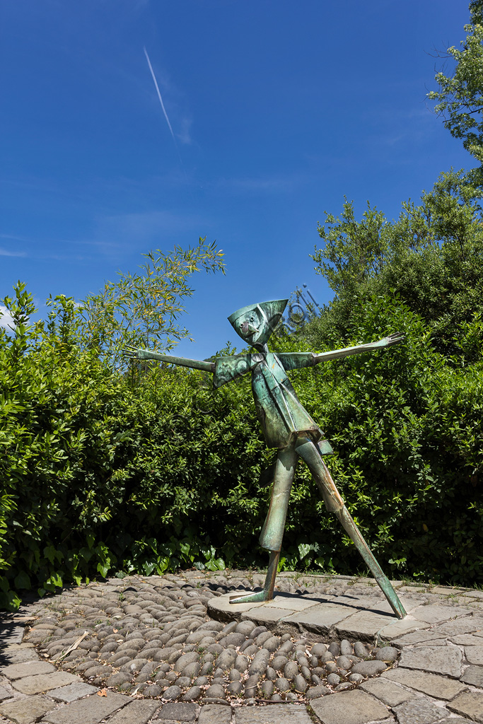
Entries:
POLYGON ((261 547, 270 551, 269 568, 266 572, 264 589, 245 596, 230 597, 230 603, 270 601, 273 598, 275 577, 277 576, 277 566, 285 529, 285 518, 287 517, 288 501, 290 499, 290 488, 295 475, 297 459, 295 445, 284 447, 277 455, 269 512, 266 515, 264 527, 260 534, 261 547))

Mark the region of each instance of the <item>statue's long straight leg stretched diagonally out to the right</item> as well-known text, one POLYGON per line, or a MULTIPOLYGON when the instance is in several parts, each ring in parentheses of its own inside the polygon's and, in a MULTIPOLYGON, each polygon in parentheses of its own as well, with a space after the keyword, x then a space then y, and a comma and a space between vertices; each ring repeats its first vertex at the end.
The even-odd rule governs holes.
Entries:
POLYGON ((299 438, 296 449, 301 458, 306 461, 308 468, 316 481, 316 485, 322 493, 325 507, 327 510, 335 513, 337 518, 339 518, 345 532, 353 540, 358 552, 364 558, 364 562, 369 568, 369 571, 371 571, 380 589, 385 594, 385 597, 387 598, 387 601, 389 602, 395 615, 397 615, 398 618, 404 618, 406 616, 406 611, 398 598, 398 594, 396 594, 389 579, 385 576, 385 573, 382 571, 379 563, 377 563, 374 555, 372 555, 369 546, 361 535, 361 531, 359 531, 356 523, 354 523, 351 518, 348 509, 345 508, 344 501, 335 487, 335 483, 332 480, 332 476, 329 473, 324 460, 322 460, 322 455, 320 454, 319 449, 316 445, 314 445, 314 442, 311 442, 308 438, 299 438))

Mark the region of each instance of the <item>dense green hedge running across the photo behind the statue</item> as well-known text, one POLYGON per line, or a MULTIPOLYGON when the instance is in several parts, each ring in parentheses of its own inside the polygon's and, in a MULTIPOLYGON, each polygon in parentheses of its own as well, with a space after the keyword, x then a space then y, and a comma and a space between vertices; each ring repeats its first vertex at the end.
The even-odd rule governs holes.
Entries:
MULTIPOLYGON (((250 380, 211 392, 211 379, 182 369, 118 376, 73 344, 68 300, 47 325, 29 327, 22 288, 15 309, 15 334, 0 337, 1 604, 98 575, 266 565, 257 538, 274 451, 250 380)), ((434 352, 397 299, 355 312, 351 341, 398 329, 407 335, 398 348, 291 376, 387 573, 481 584, 482 324, 461 330, 460 343, 479 350, 467 368, 434 352)), ((279 336, 274 346, 304 342, 279 336)), ((303 464, 282 566, 364 570, 303 464)))

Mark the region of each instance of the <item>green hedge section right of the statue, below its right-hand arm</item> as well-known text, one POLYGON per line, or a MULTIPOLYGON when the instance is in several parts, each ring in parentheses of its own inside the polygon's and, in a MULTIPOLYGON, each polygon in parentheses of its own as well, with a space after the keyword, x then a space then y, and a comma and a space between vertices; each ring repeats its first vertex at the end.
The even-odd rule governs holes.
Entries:
POLYGON ((332 385, 314 412, 337 450, 332 470, 349 510, 383 568, 474 583, 483 572, 482 319, 458 338, 477 357, 471 366, 435 351, 431 329, 398 298, 354 308, 353 328, 352 343, 392 329, 406 343, 320 373, 332 385))

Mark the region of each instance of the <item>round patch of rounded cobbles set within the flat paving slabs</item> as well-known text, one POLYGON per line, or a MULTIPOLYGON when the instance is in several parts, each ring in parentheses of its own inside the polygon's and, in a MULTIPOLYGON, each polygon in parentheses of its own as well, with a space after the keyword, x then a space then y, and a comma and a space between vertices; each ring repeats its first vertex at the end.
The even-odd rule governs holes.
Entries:
MULTIPOLYGON (((220 623, 206 613, 209 599, 250 588, 251 581, 243 574, 183 575, 64 589, 38 607, 24 640, 96 686, 202 704, 310 700, 353 689, 397 660, 393 647, 274 636, 249 620, 220 623)), ((346 586, 339 586, 300 589, 292 582, 285 590, 342 594, 346 586)))

